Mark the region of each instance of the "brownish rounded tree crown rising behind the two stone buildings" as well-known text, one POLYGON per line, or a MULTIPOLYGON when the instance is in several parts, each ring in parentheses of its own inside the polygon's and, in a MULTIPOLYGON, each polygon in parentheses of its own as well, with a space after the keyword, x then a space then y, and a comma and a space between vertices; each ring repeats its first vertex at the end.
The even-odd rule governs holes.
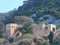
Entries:
POLYGON ((18 24, 32 24, 34 23, 32 18, 29 18, 27 16, 16 16, 15 20, 18 24))

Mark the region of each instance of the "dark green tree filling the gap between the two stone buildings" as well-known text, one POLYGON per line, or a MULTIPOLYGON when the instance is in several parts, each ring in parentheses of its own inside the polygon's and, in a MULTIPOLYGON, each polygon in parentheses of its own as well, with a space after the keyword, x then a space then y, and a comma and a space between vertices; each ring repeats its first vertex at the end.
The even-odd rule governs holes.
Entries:
POLYGON ((22 32, 22 34, 27 34, 27 33, 30 33, 32 34, 33 33, 33 26, 32 25, 24 25, 23 27, 19 27, 17 28, 16 30, 22 32))

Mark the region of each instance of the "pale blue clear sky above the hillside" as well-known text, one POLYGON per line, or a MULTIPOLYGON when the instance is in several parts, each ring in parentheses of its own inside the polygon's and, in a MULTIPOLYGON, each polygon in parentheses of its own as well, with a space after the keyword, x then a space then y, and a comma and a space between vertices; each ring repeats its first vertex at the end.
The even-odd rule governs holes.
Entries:
POLYGON ((0 0, 0 13, 5 13, 18 8, 24 0, 0 0))

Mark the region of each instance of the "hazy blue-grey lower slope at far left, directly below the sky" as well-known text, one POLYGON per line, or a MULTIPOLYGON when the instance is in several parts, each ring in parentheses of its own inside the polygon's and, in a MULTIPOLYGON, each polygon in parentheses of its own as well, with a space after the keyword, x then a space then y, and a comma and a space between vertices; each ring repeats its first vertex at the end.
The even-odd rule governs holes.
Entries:
POLYGON ((0 13, 0 22, 3 22, 3 23, 12 23, 12 20, 13 20, 13 17, 14 17, 14 14, 15 14, 16 10, 12 10, 12 11, 9 11, 7 13, 0 13))

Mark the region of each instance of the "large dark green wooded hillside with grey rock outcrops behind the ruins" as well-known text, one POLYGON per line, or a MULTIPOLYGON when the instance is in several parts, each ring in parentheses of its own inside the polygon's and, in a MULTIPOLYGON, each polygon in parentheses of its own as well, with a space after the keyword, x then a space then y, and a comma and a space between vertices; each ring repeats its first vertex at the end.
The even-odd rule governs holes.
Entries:
POLYGON ((23 3, 22 6, 18 7, 17 11, 9 13, 8 18, 10 20, 15 16, 25 15, 34 19, 35 23, 48 22, 60 24, 59 0, 27 0, 23 3))

